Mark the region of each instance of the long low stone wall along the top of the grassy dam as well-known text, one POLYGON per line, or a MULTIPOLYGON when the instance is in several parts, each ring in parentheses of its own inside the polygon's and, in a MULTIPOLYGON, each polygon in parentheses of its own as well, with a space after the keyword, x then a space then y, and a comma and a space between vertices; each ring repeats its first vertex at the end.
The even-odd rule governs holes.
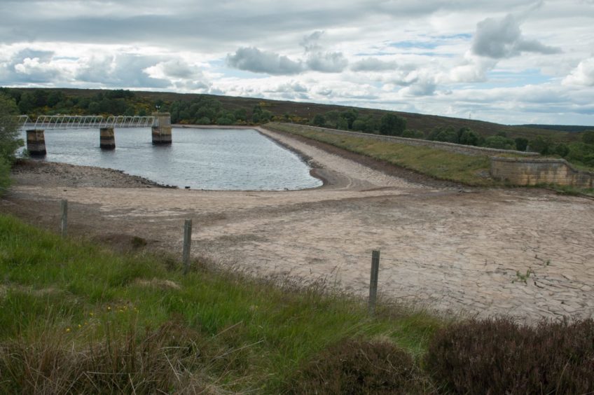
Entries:
POLYGON ((389 141, 392 143, 406 144, 409 146, 426 146, 426 147, 430 147, 430 148, 443 149, 445 151, 451 151, 451 152, 455 152, 455 153, 462 153, 464 155, 497 155, 500 153, 513 153, 514 155, 524 155, 524 156, 539 156, 540 155, 539 153, 535 153, 535 152, 523 152, 523 151, 512 151, 512 150, 506 150, 506 149, 465 146, 463 144, 445 143, 443 141, 408 139, 406 137, 384 136, 382 134, 371 134, 371 133, 362 133, 362 132, 347 132, 345 130, 328 129, 327 127, 303 126, 303 125, 291 125, 291 127, 302 127, 304 130, 307 130, 307 129, 320 130, 322 132, 331 133, 331 134, 342 134, 345 136, 363 137, 364 139, 373 139, 373 140, 378 140, 378 141, 389 141))

